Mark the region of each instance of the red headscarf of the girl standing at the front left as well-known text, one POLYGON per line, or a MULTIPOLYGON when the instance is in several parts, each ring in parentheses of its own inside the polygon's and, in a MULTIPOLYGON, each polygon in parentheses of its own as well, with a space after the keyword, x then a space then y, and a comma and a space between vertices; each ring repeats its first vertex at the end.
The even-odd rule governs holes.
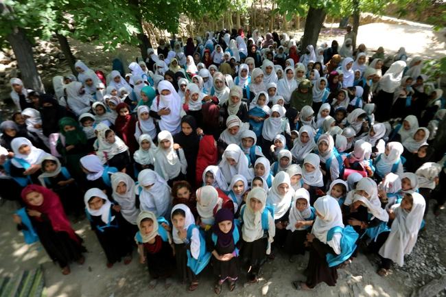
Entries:
POLYGON ((27 209, 34 209, 40 213, 45 213, 55 231, 64 231, 68 233, 71 239, 80 243, 81 239, 74 232, 73 228, 71 228, 71 224, 67 215, 65 215, 59 196, 56 193, 42 186, 29 185, 22 190, 21 196, 27 205, 27 209), (43 195, 43 203, 40 206, 31 205, 26 200, 26 195, 31 192, 37 192, 43 195))

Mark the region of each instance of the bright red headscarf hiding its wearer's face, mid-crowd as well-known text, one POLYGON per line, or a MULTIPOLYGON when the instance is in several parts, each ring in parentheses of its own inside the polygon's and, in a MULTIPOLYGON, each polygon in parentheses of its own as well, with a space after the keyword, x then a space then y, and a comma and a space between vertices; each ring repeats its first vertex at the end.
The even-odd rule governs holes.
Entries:
POLYGON ((201 187, 203 183, 203 171, 209 165, 216 165, 218 161, 217 146, 212 135, 205 135, 200 140, 200 147, 198 148, 197 167, 196 167, 196 181, 197 186, 201 187))

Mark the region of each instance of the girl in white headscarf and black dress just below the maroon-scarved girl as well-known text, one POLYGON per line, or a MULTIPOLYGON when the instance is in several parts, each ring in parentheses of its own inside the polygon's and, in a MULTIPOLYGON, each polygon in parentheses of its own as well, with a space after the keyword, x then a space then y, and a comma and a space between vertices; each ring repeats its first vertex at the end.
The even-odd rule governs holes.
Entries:
POLYGON ((99 123, 95 130, 97 131, 97 141, 94 147, 102 164, 108 164, 111 167, 116 167, 118 171, 126 172, 130 165, 130 154, 126 143, 104 123, 99 123))

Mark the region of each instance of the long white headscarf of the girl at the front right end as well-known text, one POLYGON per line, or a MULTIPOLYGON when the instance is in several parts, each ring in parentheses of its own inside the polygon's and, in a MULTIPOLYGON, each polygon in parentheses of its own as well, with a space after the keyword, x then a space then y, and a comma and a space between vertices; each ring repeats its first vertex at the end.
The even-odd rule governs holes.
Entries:
POLYGON ((399 266, 403 266, 404 255, 410 254, 415 246, 426 206, 422 195, 416 192, 411 195, 412 210, 410 212, 401 209, 399 204, 392 207, 396 218, 390 228, 390 235, 379 249, 382 257, 394 261, 399 266))

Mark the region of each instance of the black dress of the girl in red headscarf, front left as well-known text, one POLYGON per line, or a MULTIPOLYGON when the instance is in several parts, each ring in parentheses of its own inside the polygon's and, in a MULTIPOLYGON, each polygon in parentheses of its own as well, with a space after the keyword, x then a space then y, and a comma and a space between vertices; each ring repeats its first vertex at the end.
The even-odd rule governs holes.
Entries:
MULTIPOLYGON (((51 260, 57 262, 60 268, 64 268, 72 261, 78 261, 82 258, 82 252, 86 252, 86 249, 82 246, 82 239, 78 235, 76 236, 79 242, 76 242, 65 231, 55 231, 45 213, 40 216, 40 219, 37 220, 30 216, 31 224, 38 235, 38 239, 51 260)), ((27 230, 24 224, 19 224, 18 228, 19 230, 27 230)))

